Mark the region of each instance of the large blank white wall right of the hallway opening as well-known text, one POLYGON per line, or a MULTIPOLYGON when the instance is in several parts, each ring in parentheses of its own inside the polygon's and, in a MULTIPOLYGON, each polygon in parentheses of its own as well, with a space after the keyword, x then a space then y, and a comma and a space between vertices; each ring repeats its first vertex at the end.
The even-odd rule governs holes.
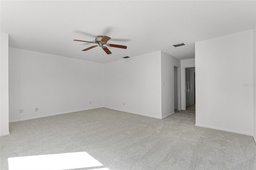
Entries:
POLYGON ((196 42, 196 125, 253 133, 252 30, 196 42))

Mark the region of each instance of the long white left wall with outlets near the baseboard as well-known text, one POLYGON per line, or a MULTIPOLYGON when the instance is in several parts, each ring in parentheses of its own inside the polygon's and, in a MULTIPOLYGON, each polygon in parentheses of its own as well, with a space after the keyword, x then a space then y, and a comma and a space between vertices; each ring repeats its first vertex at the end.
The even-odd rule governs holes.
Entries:
POLYGON ((102 107, 102 84, 101 63, 9 47, 10 122, 102 107))

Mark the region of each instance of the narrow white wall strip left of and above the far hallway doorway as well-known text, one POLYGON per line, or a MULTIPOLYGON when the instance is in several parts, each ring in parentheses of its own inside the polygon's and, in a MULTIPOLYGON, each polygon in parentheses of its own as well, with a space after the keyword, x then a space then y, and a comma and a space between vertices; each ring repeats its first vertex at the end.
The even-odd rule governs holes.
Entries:
POLYGON ((186 76, 185 76, 185 69, 188 67, 195 67, 195 59, 184 59, 180 62, 180 81, 181 81, 181 109, 186 110, 186 93, 185 93, 185 87, 186 87, 186 76))

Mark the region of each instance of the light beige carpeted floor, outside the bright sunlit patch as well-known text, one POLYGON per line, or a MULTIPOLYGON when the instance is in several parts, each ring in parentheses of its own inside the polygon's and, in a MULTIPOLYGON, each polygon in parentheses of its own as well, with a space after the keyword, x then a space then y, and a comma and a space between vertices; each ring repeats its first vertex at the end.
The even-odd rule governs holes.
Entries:
POLYGON ((1 170, 11 157, 84 151, 110 170, 256 169, 253 138, 196 127, 194 105, 162 120, 100 108, 10 123, 0 142, 1 170))

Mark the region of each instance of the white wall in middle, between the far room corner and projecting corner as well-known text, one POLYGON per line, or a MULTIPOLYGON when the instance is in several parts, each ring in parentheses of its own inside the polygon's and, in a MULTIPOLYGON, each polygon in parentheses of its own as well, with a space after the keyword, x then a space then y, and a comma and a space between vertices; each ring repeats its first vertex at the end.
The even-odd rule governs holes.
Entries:
POLYGON ((106 108, 161 119, 161 52, 105 63, 103 96, 106 108))

